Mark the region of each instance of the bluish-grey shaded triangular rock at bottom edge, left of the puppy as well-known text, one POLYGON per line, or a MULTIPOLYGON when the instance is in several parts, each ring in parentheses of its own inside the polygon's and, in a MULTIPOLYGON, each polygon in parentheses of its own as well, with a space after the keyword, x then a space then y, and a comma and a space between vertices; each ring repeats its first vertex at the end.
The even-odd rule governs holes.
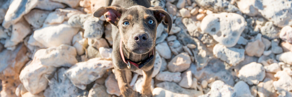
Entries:
POLYGON ((69 97, 78 96, 80 91, 64 74, 65 68, 60 68, 48 83, 48 88, 44 92, 46 97, 69 97), (58 73, 58 74, 57 74, 58 73))

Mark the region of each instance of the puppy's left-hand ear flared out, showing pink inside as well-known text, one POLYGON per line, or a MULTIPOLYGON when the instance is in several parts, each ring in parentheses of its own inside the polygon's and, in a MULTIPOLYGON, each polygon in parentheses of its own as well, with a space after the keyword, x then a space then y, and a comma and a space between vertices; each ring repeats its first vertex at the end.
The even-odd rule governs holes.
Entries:
POLYGON ((110 22, 111 24, 117 26, 117 22, 121 18, 122 12, 124 10, 125 8, 122 8, 119 5, 101 7, 101 8, 98 8, 98 10, 95 10, 95 12, 93 13, 93 16, 101 17, 102 15, 105 15, 107 22, 110 22))

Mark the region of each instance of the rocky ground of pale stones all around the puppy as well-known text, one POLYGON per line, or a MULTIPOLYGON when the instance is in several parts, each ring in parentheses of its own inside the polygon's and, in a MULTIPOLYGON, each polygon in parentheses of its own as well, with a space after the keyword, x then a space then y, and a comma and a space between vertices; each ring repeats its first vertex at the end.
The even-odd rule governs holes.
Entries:
MULTIPOLYGON (((291 0, 151 0, 157 97, 291 97, 291 0)), ((1 97, 121 96, 104 0, 1 0, 1 97)), ((141 91, 142 71, 127 72, 141 91)))

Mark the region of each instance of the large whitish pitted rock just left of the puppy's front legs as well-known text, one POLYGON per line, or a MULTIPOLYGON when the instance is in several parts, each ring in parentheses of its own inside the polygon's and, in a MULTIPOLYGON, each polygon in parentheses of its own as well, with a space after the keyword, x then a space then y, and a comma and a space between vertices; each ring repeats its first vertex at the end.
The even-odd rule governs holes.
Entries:
POLYGON ((107 69, 113 68, 112 61, 100 58, 89 59, 88 61, 76 63, 65 71, 67 77, 74 86, 79 89, 86 89, 86 85, 102 77, 107 69))

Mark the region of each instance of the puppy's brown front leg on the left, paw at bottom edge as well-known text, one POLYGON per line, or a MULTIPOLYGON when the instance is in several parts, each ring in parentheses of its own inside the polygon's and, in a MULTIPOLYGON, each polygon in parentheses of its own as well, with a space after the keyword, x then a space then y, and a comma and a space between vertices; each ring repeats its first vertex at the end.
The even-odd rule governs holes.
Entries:
POLYGON ((118 84, 119 84, 119 89, 121 91, 121 94, 124 97, 145 97, 144 95, 140 94, 137 91, 134 91, 130 87, 130 85, 128 84, 128 82, 126 80, 125 70, 120 70, 120 69, 115 68, 114 72, 115 72, 115 76, 116 76, 118 84))

